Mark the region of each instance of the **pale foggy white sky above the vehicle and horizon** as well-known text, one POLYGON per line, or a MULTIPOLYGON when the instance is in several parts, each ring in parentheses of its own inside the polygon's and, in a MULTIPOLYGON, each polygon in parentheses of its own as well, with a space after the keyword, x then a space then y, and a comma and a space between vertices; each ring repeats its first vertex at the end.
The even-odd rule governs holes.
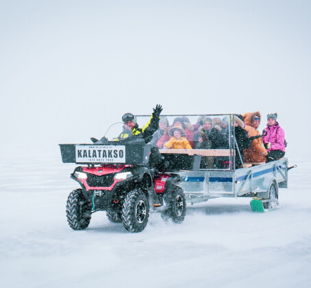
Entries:
POLYGON ((1 146, 88 142, 157 103, 260 130, 277 112, 311 144, 310 3, 1 0, 1 146))

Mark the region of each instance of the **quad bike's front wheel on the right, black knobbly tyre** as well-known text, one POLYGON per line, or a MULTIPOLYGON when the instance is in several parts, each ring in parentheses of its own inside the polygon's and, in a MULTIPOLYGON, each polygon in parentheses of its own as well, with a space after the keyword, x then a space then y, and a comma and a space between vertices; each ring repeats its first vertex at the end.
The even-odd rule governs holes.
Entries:
POLYGON ((125 196, 122 207, 123 226, 129 232, 145 229, 149 218, 149 201, 140 190, 134 189, 125 196))

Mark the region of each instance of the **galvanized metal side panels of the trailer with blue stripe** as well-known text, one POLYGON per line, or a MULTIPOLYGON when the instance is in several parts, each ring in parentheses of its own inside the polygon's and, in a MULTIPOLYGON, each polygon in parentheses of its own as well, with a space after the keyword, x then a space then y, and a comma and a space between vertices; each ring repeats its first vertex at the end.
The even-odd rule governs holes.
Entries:
POLYGON ((277 193, 279 187, 287 188, 288 159, 235 171, 172 170, 172 172, 181 176, 180 187, 186 194, 187 202, 192 205, 219 197, 269 199, 272 183, 275 183, 277 193))

